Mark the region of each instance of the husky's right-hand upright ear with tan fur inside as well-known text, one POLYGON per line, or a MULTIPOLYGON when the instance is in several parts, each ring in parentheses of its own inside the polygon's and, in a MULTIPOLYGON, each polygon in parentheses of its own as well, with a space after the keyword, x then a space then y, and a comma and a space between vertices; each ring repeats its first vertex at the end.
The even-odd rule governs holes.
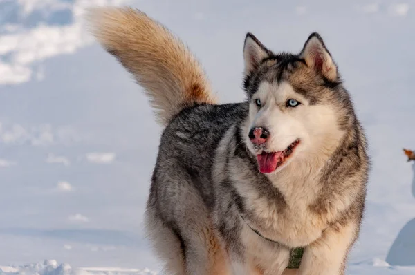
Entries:
POLYGON ((306 61, 308 67, 321 73, 327 79, 334 81, 338 78, 337 66, 324 45, 322 37, 317 32, 313 32, 308 37, 299 55, 306 61))

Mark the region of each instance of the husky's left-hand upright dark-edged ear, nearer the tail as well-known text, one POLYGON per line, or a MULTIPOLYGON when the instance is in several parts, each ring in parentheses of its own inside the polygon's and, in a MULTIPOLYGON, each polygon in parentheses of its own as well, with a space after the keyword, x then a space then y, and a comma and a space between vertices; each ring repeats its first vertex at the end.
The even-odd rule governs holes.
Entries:
POLYGON ((255 35, 248 32, 245 37, 245 44, 243 44, 245 75, 250 75, 252 71, 258 68, 261 61, 270 55, 272 55, 272 52, 262 45, 255 35))

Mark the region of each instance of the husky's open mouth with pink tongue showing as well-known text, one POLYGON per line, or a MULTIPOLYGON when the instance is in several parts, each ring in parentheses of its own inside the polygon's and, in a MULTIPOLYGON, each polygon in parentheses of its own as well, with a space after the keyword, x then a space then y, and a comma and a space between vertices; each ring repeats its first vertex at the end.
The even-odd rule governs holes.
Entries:
POLYGON ((278 167, 281 167, 291 155, 295 148, 297 148, 299 140, 295 140, 290 144, 284 151, 277 152, 266 152, 262 151, 261 154, 257 155, 257 161, 259 166, 259 171, 261 173, 272 173, 278 167))

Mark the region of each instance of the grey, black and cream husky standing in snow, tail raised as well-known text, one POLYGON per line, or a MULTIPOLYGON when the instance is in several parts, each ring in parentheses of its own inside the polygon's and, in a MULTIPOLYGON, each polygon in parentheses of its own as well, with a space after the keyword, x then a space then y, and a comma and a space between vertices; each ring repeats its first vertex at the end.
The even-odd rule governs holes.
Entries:
POLYGON ((89 21, 165 127, 145 222, 167 274, 344 274, 370 165, 320 35, 277 54, 248 33, 246 101, 218 104, 190 50, 145 13, 96 8, 89 21))

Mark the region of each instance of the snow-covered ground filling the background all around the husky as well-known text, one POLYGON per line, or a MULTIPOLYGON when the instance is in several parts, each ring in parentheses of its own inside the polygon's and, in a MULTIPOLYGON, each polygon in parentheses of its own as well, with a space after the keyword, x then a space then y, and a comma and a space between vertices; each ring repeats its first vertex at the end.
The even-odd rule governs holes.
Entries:
MULTIPOLYGON (((0 274, 160 269, 142 214, 161 129, 141 88, 84 29, 82 10, 106 3, 131 4, 166 23, 199 57, 223 102, 243 99, 247 31, 277 51, 300 50, 320 32, 373 158, 348 274, 415 274, 385 263, 415 218, 414 173, 402 151, 415 149, 415 2, 405 0, 0 1, 0 274), (73 268, 28 265, 45 259, 73 268), (91 266, 102 269, 82 268, 91 266)), ((414 239, 398 244, 407 249, 414 239)), ((415 249, 405 254, 415 259, 415 249)))

